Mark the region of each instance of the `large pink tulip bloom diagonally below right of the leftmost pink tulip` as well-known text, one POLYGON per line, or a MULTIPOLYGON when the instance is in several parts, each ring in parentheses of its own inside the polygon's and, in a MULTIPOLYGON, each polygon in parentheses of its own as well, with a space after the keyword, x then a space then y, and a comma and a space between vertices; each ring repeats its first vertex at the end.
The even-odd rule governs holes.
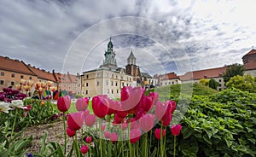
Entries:
POLYGON ((67 126, 72 131, 78 131, 84 124, 82 113, 70 113, 67 118, 67 126))

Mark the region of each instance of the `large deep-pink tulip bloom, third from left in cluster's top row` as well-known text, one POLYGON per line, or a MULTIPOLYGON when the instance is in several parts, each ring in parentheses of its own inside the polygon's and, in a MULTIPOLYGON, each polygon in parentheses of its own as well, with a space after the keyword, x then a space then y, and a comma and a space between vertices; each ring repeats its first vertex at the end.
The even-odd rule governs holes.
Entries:
POLYGON ((94 96, 92 98, 92 109, 97 117, 103 118, 108 113, 108 97, 107 96, 94 96))

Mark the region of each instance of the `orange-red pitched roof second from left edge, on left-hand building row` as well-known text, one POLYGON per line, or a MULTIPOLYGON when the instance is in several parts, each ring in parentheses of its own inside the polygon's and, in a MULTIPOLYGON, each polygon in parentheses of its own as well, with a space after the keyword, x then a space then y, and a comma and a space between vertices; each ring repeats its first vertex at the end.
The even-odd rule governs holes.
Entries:
POLYGON ((53 73, 46 72, 43 69, 39 69, 37 67, 32 67, 30 64, 26 65, 30 70, 32 70, 33 73, 38 75, 38 78, 43 78, 45 80, 56 82, 56 79, 53 75, 53 73))

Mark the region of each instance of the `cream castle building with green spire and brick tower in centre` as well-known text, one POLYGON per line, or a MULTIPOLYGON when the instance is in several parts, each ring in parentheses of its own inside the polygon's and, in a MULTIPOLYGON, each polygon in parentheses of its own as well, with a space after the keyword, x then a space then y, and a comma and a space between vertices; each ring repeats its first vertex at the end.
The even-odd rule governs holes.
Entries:
POLYGON ((131 52, 126 68, 118 67, 111 38, 105 51, 103 64, 81 75, 81 94, 87 97, 107 95, 119 98, 124 86, 137 86, 136 58, 131 52))

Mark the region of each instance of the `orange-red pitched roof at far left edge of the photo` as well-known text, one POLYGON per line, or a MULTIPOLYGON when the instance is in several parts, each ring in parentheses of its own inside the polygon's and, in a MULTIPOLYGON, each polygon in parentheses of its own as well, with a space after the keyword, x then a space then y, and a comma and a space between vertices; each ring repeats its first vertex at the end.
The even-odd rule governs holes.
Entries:
POLYGON ((36 75, 35 73, 32 73, 29 68, 26 67, 26 64, 23 61, 13 60, 7 56, 0 56, 0 69, 16 73, 24 73, 34 76, 36 75))

